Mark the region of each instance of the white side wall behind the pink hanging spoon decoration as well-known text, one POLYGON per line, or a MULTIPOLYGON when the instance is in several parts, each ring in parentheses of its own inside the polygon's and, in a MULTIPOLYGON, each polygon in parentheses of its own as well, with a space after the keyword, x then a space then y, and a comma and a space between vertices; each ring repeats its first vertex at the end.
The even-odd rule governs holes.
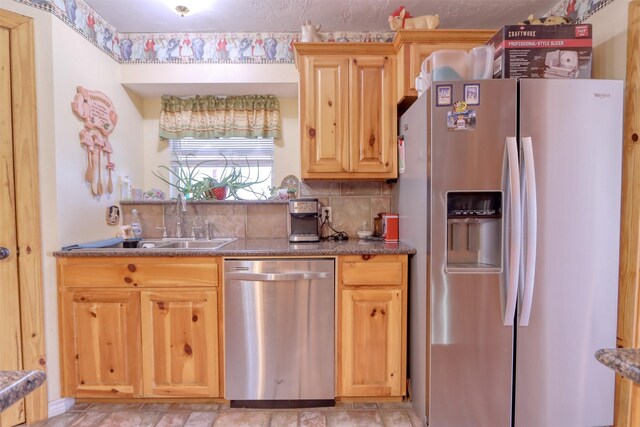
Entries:
POLYGON ((59 19, 52 23, 51 43, 59 55, 53 61, 56 163, 65 165, 57 172, 58 231, 60 244, 66 245, 117 233, 117 227, 106 224, 105 210, 109 205, 117 205, 120 199, 117 175, 129 175, 134 182, 143 179, 143 127, 142 112, 136 106, 138 97, 130 96, 120 84, 120 64, 59 19), (101 160, 104 194, 93 196, 84 181, 87 155, 78 137, 84 123, 70 107, 77 86, 104 93, 118 113, 118 122, 109 135, 113 147, 111 161, 115 163, 113 194, 107 193, 104 157, 101 160))

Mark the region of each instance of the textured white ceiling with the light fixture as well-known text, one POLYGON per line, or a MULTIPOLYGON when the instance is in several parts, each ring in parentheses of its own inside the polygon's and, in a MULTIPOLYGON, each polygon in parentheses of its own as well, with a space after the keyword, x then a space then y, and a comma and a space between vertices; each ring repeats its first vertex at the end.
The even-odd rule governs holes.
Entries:
POLYGON ((321 32, 390 31, 388 16, 404 5, 412 16, 440 16, 440 28, 498 28, 559 0, 85 0, 117 31, 299 32, 311 20, 321 32), (193 13, 180 17, 175 5, 193 13), (196 9, 201 9, 199 12, 196 9))

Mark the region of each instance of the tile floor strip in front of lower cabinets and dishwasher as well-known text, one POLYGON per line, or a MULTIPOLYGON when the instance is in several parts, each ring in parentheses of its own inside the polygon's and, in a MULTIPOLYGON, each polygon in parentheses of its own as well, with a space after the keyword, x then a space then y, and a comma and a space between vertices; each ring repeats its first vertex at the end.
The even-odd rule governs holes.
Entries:
POLYGON ((422 427, 411 403, 338 403, 334 408, 231 409, 217 403, 76 403, 32 426, 47 427, 422 427))

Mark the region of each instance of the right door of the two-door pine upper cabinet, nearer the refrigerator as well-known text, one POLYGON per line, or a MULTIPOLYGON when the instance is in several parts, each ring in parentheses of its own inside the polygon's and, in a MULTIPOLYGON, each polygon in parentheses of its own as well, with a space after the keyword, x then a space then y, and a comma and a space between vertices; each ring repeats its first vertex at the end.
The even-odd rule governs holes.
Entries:
POLYGON ((394 178, 397 133, 395 58, 362 56, 351 61, 350 171, 394 178))

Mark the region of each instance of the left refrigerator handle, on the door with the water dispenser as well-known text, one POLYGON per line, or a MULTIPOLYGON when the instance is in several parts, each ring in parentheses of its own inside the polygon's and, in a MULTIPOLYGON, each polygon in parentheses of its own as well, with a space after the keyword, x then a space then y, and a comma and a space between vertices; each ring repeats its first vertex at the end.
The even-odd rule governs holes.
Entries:
MULTIPOLYGON (((520 212, 520 169, 518 166, 518 142, 515 137, 506 139, 507 165, 509 168, 509 265, 507 270, 507 297, 504 310, 504 326, 513 326, 518 297, 520 246, 522 242, 522 215, 520 212)), ((506 239, 505 239, 506 240, 506 239)))

